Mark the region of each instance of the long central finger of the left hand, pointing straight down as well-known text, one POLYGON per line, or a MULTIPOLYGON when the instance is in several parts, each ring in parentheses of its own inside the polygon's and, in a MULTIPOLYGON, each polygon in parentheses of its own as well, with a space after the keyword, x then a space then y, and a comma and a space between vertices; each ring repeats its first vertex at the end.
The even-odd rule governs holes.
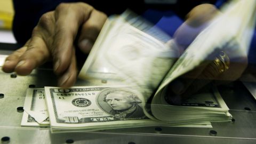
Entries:
POLYGON ((75 3, 60 4, 55 10, 55 35, 51 50, 57 75, 69 68, 78 28, 90 17, 92 9, 85 3, 75 3))

